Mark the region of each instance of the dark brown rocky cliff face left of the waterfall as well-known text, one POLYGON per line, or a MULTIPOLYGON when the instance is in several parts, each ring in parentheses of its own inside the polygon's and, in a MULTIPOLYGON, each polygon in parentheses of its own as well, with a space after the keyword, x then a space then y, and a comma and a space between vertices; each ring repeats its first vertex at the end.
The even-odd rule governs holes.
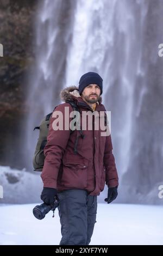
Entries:
POLYGON ((21 168, 19 120, 26 118, 25 80, 34 61, 33 22, 36 0, 1 0, 0 43, 0 164, 21 168))

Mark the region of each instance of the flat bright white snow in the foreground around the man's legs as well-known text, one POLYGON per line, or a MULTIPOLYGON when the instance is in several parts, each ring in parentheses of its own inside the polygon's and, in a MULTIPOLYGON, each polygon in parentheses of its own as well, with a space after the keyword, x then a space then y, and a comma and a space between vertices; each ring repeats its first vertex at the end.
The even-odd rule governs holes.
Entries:
MULTIPOLYGON (((40 221, 34 206, 0 205, 0 245, 59 245, 58 210, 40 221)), ((163 245, 162 216, 162 206, 99 203, 90 245, 163 245)))

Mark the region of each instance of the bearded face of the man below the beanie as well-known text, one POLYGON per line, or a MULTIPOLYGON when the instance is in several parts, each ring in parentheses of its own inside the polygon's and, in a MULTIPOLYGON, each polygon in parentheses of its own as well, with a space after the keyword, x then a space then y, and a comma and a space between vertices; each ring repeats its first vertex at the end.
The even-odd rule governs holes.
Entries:
POLYGON ((98 101, 101 90, 97 84, 89 84, 82 92, 82 97, 89 103, 95 103, 98 101))

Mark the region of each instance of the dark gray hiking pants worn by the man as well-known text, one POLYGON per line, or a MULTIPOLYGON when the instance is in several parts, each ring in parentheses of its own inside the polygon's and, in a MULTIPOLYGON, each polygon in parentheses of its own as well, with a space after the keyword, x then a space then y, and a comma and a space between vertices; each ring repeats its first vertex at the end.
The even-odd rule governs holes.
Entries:
POLYGON ((96 222, 97 196, 86 190, 59 192, 60 245, 89 245, 96 222))

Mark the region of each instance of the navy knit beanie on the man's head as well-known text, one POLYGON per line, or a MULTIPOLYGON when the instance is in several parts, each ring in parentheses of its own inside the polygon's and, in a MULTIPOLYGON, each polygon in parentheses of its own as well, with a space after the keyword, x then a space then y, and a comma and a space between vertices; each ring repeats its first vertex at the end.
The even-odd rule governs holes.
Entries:
POLYGON ((79 81, 79 94, 81 95, 84 88, 89 86, 89 84, 97 84, 101 90, 101 94, 103 93, 103 80, 101 76, 99 76, 96 72, 87 72, 83 76, 80 77, 79 81))

